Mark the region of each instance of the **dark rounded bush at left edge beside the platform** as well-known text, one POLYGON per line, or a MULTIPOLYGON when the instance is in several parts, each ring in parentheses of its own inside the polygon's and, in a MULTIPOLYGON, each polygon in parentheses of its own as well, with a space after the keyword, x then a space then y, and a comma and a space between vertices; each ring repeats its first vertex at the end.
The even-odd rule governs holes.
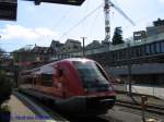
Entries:
POLYGON ((12 83, 10 78, 7 76, 5 72, 0 71, 0 107, 1 105, 10 99, 10 95, 12 94, 12 83))

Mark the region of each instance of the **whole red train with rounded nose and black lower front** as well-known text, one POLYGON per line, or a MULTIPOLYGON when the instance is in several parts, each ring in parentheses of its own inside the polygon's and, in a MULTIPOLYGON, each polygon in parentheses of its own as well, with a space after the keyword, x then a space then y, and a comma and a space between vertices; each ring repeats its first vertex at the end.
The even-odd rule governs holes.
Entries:
POLYGON ((95 61, 71 58, 20 73, 19 89, 80 114, 103 114, 115 105, 116 93, 95 61))

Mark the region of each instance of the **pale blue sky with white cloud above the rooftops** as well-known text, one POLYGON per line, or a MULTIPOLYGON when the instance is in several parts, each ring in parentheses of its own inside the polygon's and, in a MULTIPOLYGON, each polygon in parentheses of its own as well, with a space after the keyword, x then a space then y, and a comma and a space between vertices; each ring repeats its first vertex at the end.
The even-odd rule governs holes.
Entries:
MULTIPOLYGON (((134 23, 131 25, 117 10, 110 8, 110 35, 121 26, 124 38, 132 36, 132 32, 145 29, 159 17, 164 19, 164 0, 112 0, 134 23)), ((81 7, 42 3, 35 5, 31 1, 17 1, 16 21, 0 20, 0 48, 13 51, 22 47, 48 47, 51 40, 65 42, 68 38, 85 45, 92 40, 105 38, 104 0, 85 0, 81 7), (95 10, 97 7, 96 11, 95 10), (92 14, 90 16, 89 13, 92 14), (87 16, 87 17, 86 17, 87 16)))

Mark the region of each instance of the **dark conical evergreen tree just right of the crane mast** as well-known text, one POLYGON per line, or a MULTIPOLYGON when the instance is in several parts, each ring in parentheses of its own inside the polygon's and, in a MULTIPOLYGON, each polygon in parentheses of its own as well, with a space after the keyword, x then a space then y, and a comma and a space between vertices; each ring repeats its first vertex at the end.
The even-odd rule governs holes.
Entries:
POLYGON ((124 44, 125 41, 122 40, 122 30, 121 27, 116 27, 115 28, 115 33, 113 36, 113 45, 119 45, 119 44, 124 44))

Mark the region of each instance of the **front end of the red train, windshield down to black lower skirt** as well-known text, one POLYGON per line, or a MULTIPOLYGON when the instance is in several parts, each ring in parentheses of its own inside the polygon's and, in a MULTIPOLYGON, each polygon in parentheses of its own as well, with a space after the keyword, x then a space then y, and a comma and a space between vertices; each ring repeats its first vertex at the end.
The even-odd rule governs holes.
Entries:
POLYGON ((104 114, 114 107, 116 93, 105 70, 95 61, 81 59, 72 61, 80 77, 83 96, 71 98, 73 112, 86 115, 104 114))

